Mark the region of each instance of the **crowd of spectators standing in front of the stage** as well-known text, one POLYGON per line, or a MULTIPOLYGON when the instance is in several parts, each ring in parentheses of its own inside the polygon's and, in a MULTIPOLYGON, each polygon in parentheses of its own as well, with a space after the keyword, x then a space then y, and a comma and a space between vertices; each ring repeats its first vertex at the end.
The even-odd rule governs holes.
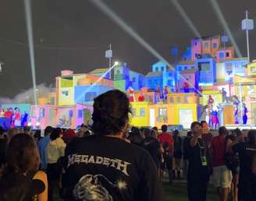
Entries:
POLYGON ((209 182, 221 201, 256 201, 256 130, 222 126, 214 136, 193 122, 182 136, 130 128, 129 116, 129 98, 110 90, 94 99, 90 128, 0 127, 0 200, 161 201, 168 178, 187 180, 189 201, 205 201, 209 182))

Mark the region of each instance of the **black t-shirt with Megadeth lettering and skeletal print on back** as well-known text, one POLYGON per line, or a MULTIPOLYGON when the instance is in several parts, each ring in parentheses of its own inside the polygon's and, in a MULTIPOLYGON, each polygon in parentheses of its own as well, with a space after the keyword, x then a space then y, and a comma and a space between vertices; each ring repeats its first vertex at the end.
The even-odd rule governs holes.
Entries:
POLYGON ((66 147, 62 185, 80 201, 161 201, 162 191, 150 154, 122 139, 81 138, 66 147))

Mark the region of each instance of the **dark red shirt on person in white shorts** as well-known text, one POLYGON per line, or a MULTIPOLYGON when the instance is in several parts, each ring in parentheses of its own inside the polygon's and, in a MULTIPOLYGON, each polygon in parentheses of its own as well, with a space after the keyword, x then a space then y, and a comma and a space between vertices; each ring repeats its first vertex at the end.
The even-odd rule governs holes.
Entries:
POLYGON ((216 136, 212 139, 212 166, 225 165, 225 137, 216 136))

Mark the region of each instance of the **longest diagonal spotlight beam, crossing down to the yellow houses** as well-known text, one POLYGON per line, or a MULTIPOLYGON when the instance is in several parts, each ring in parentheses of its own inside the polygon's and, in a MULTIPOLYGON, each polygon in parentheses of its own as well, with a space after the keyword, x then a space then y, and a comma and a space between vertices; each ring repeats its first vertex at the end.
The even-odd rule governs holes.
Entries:
MULTIPOLYGON (((169 63, 167 62, 167 60, 165 58, 163 58, 158 51, 155 51, 154 48, 151 47, 150 44, 148 44, 147 41, 144 41, 144 39, 142 37, 140 37, 140 35, 138 33, 136 33, 128 24, 126 24, 123 19, 121 19, 116 12, 112 11, 112 9, 110 9, 108 7, 108 5, 106 5, 104 2, 102 2, 101 0, 90 0, 90 2, 92 4, 94 4, 95 6, 98 7, 98 9, 101 10, 101 12, 104 12, 106 16, 108 16, 110 19, 112 19, 117 25, 119 25, 126 33, 128 33, 131 37, 133 37, 133 39, 135 41, 137 41, 138 44, 142 45, 146 50, 148 50, 151 55, 154 55, 156 58, 158 58, 159 60, 161 60, 162 62, 165 62, 166 65, 169 66, 170 69, 176 71, 176 69, 169 63)), ((180 78, 182 78, 183 80, 185 80, 188 85, 190 87, 192 87, 195 91, 197 91, 197 93, 201 94, 202 93, 197 90, 193 83, 190 83, 187 81, 187 79, 180 75, 180 78)))

